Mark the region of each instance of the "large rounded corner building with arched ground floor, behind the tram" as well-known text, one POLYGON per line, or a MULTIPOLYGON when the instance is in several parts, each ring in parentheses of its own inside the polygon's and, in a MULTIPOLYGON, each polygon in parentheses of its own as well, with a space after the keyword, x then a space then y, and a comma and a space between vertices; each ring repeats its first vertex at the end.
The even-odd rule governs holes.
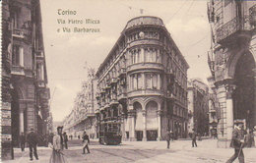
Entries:
POLYGON ((187 136, 188 68, 160 18, 130 20, 96 72, 97 131, 119 122, 123 140, 187 136))

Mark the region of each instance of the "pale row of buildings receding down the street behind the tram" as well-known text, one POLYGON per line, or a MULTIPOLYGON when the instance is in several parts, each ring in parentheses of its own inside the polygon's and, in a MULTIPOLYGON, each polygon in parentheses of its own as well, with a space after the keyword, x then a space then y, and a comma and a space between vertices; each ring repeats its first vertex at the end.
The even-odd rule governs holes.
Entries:
POLYGON ((74 108, 65 118, 64 132, 74 138, 82 137, 84 131, 90 138, 96 138, 96 79, 94 70, 89 71, 88 81, 77 94, 74 108))

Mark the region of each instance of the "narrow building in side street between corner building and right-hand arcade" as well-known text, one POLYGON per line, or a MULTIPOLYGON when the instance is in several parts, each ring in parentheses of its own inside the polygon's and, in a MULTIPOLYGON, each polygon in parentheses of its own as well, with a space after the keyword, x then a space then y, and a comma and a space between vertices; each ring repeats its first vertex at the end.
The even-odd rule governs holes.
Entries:
POLYGON ((209 134, 209 87, 203 81, 188 81, 188 133, 193 129, 205 136, 209 134))

